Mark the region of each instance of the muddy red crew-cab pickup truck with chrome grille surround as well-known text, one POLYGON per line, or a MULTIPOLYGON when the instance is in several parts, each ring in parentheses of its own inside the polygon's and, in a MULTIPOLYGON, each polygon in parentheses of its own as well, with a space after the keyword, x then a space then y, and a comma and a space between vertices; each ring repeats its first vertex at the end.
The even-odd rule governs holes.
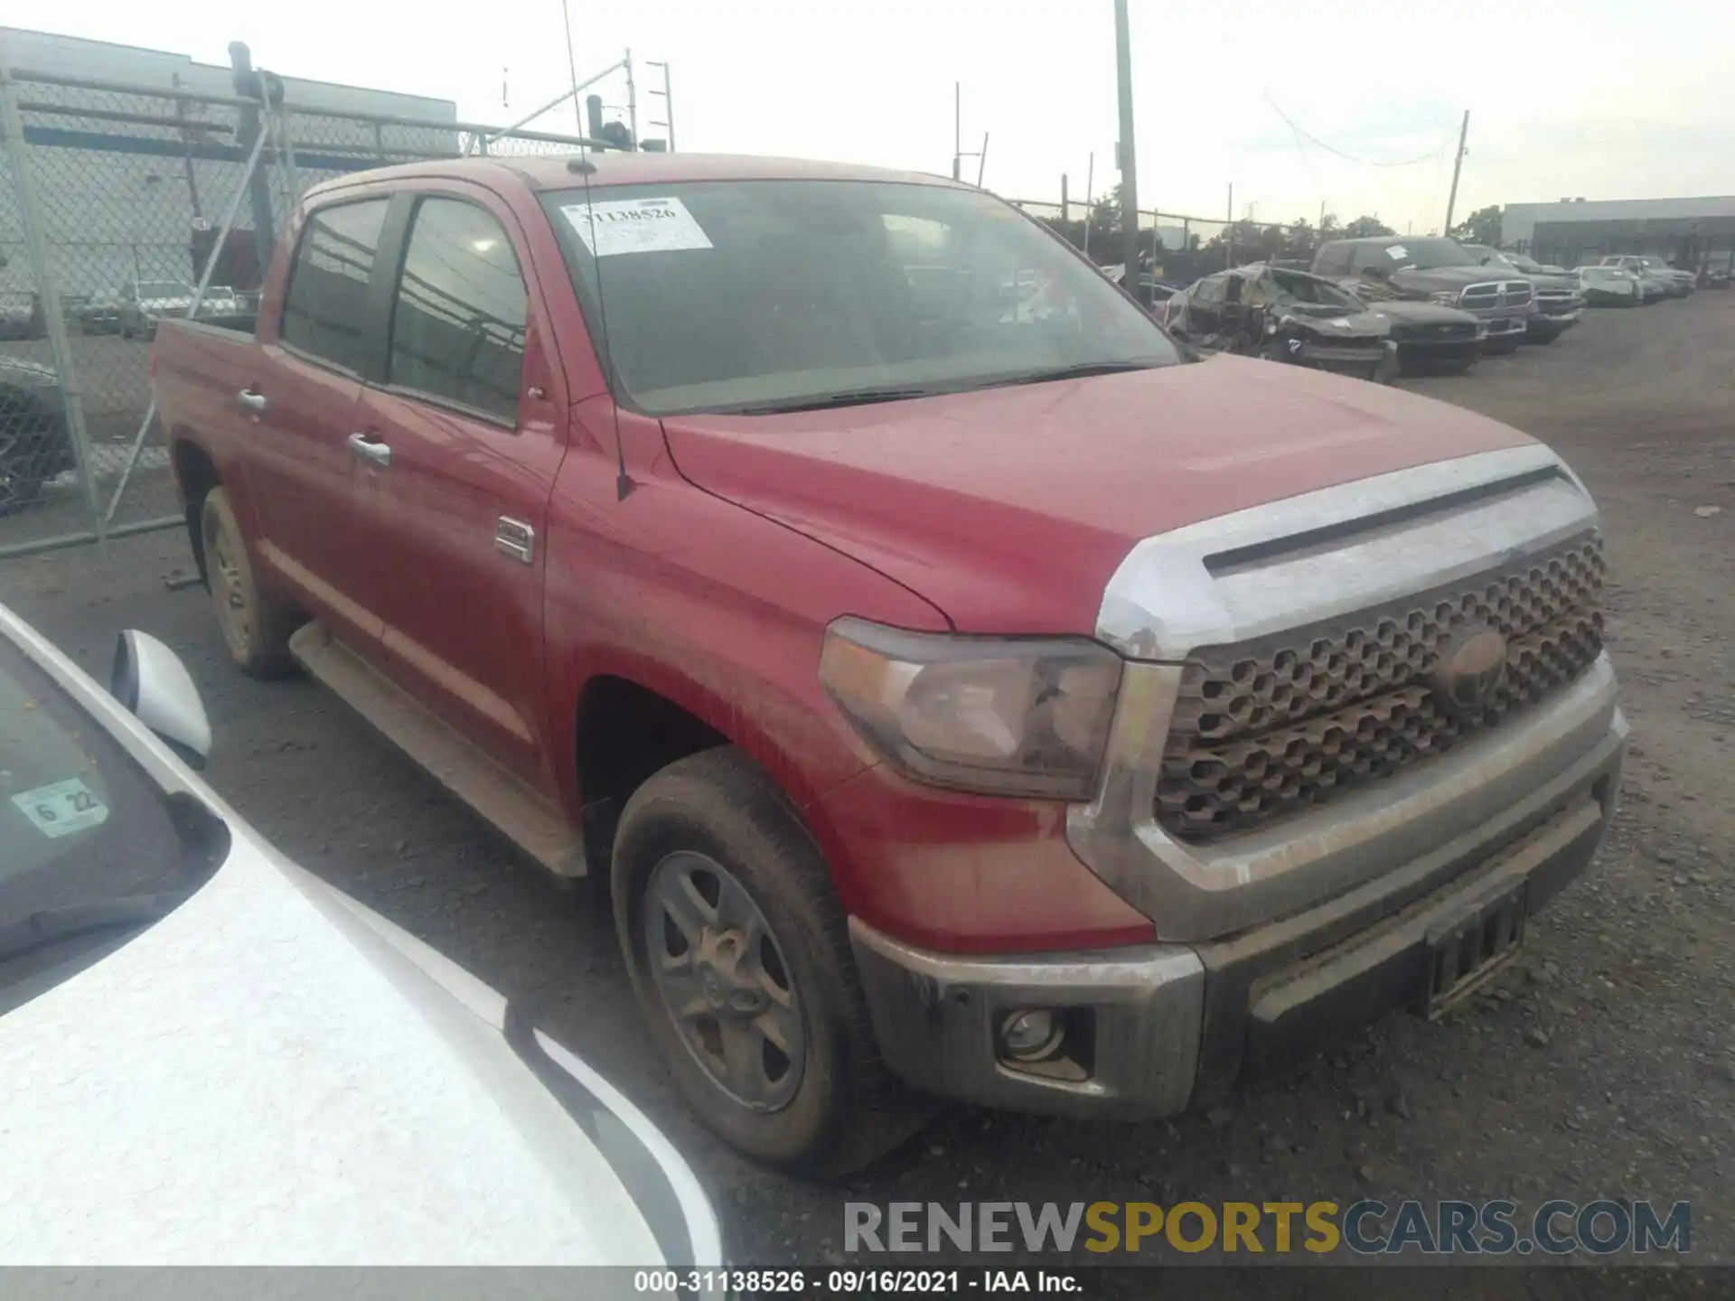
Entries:
POLYGON ((1546 448, 1202 361, 928 175, 312 191, 151 371, 236 663, 611 886, 685 1096, 841 1171, 932 1096, 1208 1105, 1497 970, 1626 722, 1546 448))

